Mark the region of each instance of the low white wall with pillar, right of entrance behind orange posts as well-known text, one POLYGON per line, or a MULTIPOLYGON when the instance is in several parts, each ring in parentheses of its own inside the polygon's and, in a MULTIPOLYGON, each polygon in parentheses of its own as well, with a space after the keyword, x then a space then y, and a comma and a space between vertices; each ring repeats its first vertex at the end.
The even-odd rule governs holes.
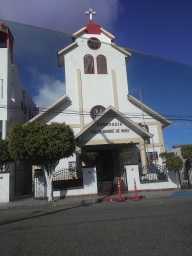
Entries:
MULTIPOLYGON (((134 178, 136 181, 136 189, 137 190, 177 188, 176 175, 175 175, 174 171, 168 171, 168 181, 140 184, 138 165, 126 165, 125 168, 126 168, 128 191, 134 190, 134 178)), ((177 174, 177 178, 178 178, 178 182, 179 182, 178 173, 176 173, 176 174, 177 174)))

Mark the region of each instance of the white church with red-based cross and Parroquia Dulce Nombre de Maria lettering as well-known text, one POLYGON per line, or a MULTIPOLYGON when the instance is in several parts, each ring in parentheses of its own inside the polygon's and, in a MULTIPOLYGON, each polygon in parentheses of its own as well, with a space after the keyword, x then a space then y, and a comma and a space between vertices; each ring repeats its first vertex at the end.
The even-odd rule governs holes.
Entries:
MULTIPOLYGON (((74 130, 76 153, 60 160, 57 169, 72 165, 81 169, 79 153, 97 152, 96 166, 92 167, 97 189, 89 193, 105 191, 104 185, 99 188, 98 183, 109 179, 111 183, 118 178, 123 182, 125 176, 120 169, 125 170, 129 191, 134 189, 133 178, 140 190, 174 189, 176 183, 171 174, 160 178, 147 167, 147 159, 163 167, 158 154, 164 151, 162 129, 170 121, 128 93, 126 65, 131 54, 113 43, 111 33, 93 23, 91 9, 88 13, 89 23, 73 33, 72 42, 57 53, 58 66, 65 68, 66 94, 30 122, 64 121, 74 130), (129 113, 135 113, 137 118, 129 117, 129 113), (135 152, 131 164, 119 159, 119 152, 123 151, 135 152)), ((65 191, 64 195, 68 194, 65 191)))

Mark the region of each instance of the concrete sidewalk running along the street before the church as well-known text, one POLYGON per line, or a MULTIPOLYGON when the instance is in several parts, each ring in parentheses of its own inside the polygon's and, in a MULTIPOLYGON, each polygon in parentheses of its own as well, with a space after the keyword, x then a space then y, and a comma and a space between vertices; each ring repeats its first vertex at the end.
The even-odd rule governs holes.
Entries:
MULTIPOLYGON (((167 190, 167 191, 152 191, 152 192, 138 192, 138 196, 145 196, 146 199, 149 198, 163 198, 169 197, 172 193, 176 191, 167 190)), ((182 190, 182 192, 185 192, 182 190)), ((186 192, 192 192, 192 189, 187 189, 186 192)), ((183 194, 184 195, 184 194, 183 194)), ((134 193, 123 193, 121 197, 130 197, 135 196, 134 193)), ((31 208, 31 207, 52 207, 52 206, 61 206, 61 205, 71 205, 71 204, 89 204, 100 202, 100 199, 113 199, 118 197, 118 194, 111 195, 100 195, 100 196, 90 196, 90 197, 78 197, 78 198, 65 198, 55 200, 54 202, 47 202, 46 200, 34 200, 33 198, 27 198, 19 201, 11 202, 0 202, 0 209, 14 209, 14 208, 31 208)))

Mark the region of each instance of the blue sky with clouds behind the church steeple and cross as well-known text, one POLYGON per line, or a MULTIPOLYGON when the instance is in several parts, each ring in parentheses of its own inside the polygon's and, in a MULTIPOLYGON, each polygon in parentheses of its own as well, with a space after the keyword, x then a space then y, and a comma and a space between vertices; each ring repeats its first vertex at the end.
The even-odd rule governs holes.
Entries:
MULTIPOLYGON (((114 43, 190 65, 131 51, 127 80, 129 93, 139 98, 141 90, 143 103, 160 114, 192 117, 191 0, 6 0, 0 20, 70 34, 88 23, 84 12, 90 7, 96 11, 93 21, 115 36, 114 43)), ((5 24, 14 36, 14 61, 23 86, 40 107, 47 106, 52 103, 48 94, 55 101, 65 93, 64 68, 58 67, 56 53, 70 43, 70 36, 5 24)), ((178 116, 174 119, 187 119, 178 116)), ((192 143, 192 121, 174 120, 163 137, 166 149, 192 143)))

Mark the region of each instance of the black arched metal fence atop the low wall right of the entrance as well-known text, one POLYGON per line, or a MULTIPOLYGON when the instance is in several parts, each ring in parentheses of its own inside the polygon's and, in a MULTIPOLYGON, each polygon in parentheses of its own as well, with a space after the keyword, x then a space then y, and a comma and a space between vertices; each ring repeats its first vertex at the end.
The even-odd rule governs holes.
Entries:
POLYGON ((138 168, 140 182, 168 180, 167 169, 160 164, 146 164, 138 168))

